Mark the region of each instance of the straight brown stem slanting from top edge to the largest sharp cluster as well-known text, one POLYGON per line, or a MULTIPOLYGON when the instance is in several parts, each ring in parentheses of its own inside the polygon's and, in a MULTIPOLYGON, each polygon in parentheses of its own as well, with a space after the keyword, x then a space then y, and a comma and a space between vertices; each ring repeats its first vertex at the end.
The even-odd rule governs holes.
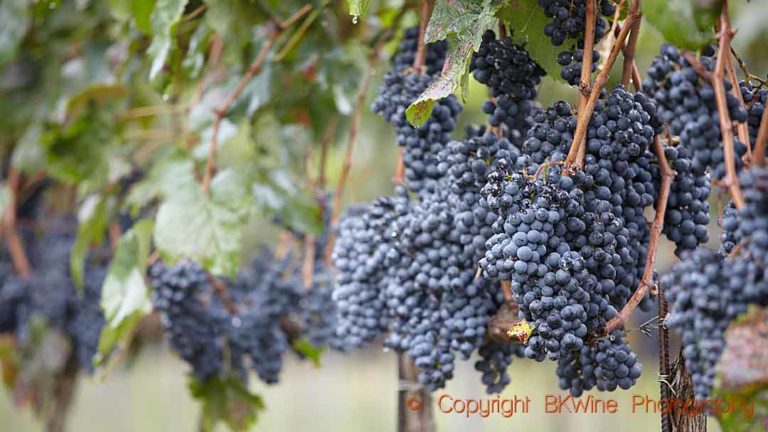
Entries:
MULTIPOLYGON (((592 112, 595 110, 595 105, 597 105, 600 92, 602 91, 609 75, 611 74, 611 70, 613 69, 613 65, 616 63, 619 52, 623 51, 624 49, 624 41, 626 41, 630 29, 634 25, 635 21, 638 21, 641 17, 642 13, 640 12, 640 0, 632 0, 627 19, 624 21, 624 26, 622 27, 621 32, 619 32, 619 35, 616 37, 616 41, 614 41, 613 46, 611 47, 611 53, 608 55, 608 58, 605 61, 605 67, 597 75, 594 85, 591 88, 586 89, 589 94, 589 99, 587 99, 584 107, 580 107, 579 109, 578 123, 576 125, 576 132, 574 133, 573 143, 571 144, 571 148, 568 151, 568 156, 565 159, 566 167, 582 167, 584 165, 584 155, 586 153, 585 138, 587 136, 589 120, 592 118, 592 112)), ((586 60, 584 63, 587 64, 586 60)), ((583 91, 584 89, 582 89, 582 92, 583 91)))

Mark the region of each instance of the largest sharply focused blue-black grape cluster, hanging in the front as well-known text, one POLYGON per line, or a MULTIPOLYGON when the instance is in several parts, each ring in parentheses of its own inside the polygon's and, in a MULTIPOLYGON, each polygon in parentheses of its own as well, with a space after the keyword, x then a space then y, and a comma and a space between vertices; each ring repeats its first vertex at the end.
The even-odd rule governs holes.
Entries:
POLYGON ((580 364, 587 336, 639 286, 649 240, 643 211, 657 194, 649 147, 660 124, 652 101, 615 88, 595 107, 584 169, 565 175, 575 116, 559 102, 535 119, 522 155, 498 163, 482 189, 481 206, 498 217, 479 263, 487 277, 511 281, 534 325, 526 356, 580 364))

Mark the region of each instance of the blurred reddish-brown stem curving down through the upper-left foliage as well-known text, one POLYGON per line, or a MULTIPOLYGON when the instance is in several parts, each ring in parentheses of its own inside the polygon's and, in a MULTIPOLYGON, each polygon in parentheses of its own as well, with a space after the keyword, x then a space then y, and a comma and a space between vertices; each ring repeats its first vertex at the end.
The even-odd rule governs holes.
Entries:
POLYGON ((224 116, 226 116, 229 108, 237 101, 240 95, 242 95, 243 91, 248 86, 248 83, 250 83, 251 80, 261 72, 261 69, 264 67, 264 63, 267 60, 267 55, 275 45, 275 42, 277 41, 277 38, 280 36, 280 34, 282 34, 284 30, 289 28, 295 22, 303 18, 312 9, 312 5, 307 4, 296 11, 293 15, 288 17, 288 19, 285 21, 273 20, 271 22, 271 29, 269 30, 270 35, 264 42, 264 45, 262 45, 261 50, 259 50, 259 53, 253 60, 253 63, 251 63, 251 65, 248 67, 245 75, 240 78, 240 81, 237 83, 232 92, 229 93, 226 99, 224 99, 224 102, 222 102, 222 104, 214 110, 213 126, 211 127, 211 144, 208 149, 208 160, 205 164, 205 174, 203 175, 202 182, 203 192, 208 192, 211 184, 211 178, 213 178, 214 171, 216 170, 216 152, 218 151, 219 147, 219 130, 221 129, 221 122, 224 120, 224 116))

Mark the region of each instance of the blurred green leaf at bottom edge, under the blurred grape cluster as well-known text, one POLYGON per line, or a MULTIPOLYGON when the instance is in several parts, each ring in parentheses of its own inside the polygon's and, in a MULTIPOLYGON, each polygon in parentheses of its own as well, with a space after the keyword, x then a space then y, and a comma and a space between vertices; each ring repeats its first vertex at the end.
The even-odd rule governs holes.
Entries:
POLYGON ((261 397, 251 393, 237 377, 213 377, 205 381, 190 377, 189 390, 192 397, 203 404, 200 420, 203 431, 214 430, 222 421, 232 430, 247 430, 264 409, 261 397))

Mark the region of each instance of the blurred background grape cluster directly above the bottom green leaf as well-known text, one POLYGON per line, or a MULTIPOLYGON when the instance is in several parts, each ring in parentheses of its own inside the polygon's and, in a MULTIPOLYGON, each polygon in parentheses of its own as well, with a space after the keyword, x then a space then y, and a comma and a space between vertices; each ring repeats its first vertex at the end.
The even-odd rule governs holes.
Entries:
POLYGON ((311 287, 304 286, 290 256, 277 259, 269 250, 232 280, 209 277, 193 261, 155 264, 149 269, 152 300, 171 347, 198 379, 232 371, 246 381, 250 367, 274 384, 294 341, 322 347, 334 336, 332 280, 320 262, 311 287))

